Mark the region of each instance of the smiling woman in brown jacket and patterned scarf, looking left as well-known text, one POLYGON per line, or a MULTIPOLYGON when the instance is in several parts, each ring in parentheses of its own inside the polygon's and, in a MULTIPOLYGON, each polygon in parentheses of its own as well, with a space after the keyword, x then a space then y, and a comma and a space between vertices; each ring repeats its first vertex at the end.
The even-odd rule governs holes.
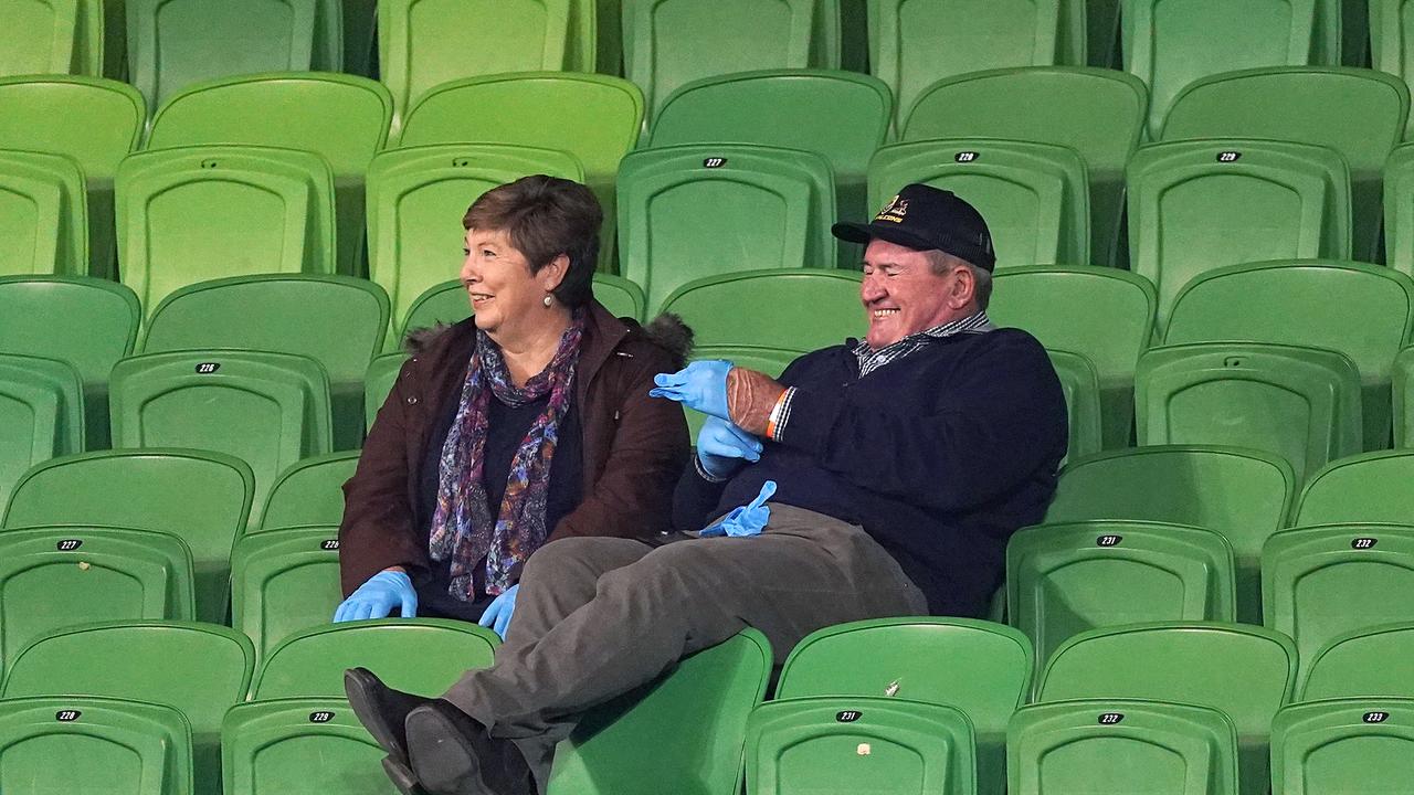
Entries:
POLYGON ((667 529, 687 426, 648 392, 691 332, 594 300, 601 219, 588 188, 544 175, 467 211, 475 314, 409 340, 344 485, 335 621, 396 611, 505 637, 520 567, 544 543, 667 529))

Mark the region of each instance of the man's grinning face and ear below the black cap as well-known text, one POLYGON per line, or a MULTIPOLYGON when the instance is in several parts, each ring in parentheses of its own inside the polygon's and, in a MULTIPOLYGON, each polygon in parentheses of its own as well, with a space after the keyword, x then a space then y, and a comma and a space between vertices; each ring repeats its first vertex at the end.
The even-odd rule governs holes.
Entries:
POLYGON ((874 239, 864 249, 864 283, 860 300, 868 313, 864 341, 878 351, 909 334, 971 314, 971 274, 966 266, 933 273, 928 255, 888 240, 874 239), (959 280, 966 279, 966 284, 959 280))

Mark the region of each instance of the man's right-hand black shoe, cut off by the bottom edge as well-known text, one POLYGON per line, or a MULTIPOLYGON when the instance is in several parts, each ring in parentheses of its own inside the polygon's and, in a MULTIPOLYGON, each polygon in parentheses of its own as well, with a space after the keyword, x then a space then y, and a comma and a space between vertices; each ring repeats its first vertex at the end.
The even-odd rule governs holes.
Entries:
MULTIPOLYGON (((530 768, 509 740, 492 737, 469 714, 441 699, 407 713, 414 781, 407 795, 526 795, 530 768)), ((395 784, 400 788, 403 784, 395 784)))

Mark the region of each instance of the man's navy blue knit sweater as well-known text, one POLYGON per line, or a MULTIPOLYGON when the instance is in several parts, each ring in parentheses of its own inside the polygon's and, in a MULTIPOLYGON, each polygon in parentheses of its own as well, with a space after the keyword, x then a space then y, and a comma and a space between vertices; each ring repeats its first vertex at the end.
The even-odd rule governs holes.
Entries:
POLYGON ((779 381, 797 388, 781 443, 727 482, 689 467, 674 526, 701 529, 773 480, 773 502, 861 525, 933 614, 986 614, 1007 539, 1041 522, 1066 450, 1065 395, 1041 344, 1012 328, 957 334, 864 378, 846 344, 779 381))

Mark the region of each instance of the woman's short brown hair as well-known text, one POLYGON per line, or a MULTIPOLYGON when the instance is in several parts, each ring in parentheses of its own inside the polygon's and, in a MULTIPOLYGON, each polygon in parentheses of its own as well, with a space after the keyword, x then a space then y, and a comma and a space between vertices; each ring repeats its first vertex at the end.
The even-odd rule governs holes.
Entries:
POLYGON ((495 229, 510 238, 530 263, 530 273, 566 255, 570 269, 551 293, 577 308, 594 297, 594 266, 600 256, 600 224, 604 211, 594 192, 578 182, 533 174, 481 194, 461 225, 495 229))

